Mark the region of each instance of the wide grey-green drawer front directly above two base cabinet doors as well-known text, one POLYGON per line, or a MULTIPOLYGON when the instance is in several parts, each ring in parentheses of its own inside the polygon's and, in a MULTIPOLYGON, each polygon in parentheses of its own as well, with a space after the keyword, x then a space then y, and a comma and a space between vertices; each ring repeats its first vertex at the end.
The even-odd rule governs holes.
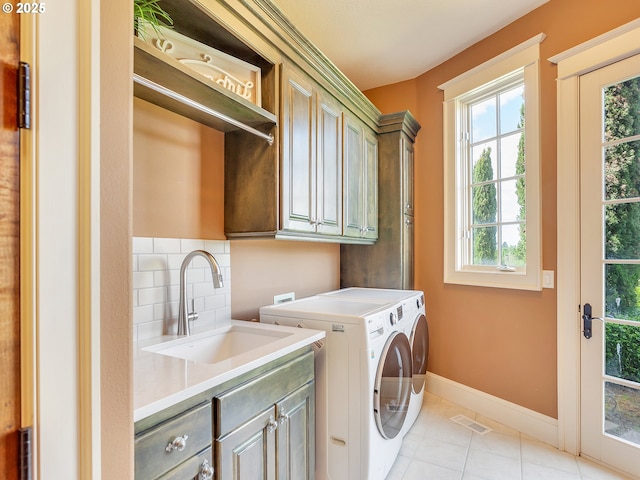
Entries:
POLYGON ((292 360, 262 377, 229 390, 213 399, 216 413, 215 437, 220 438, 269 409, 290 392, 313 380, 313 352, 292 360))

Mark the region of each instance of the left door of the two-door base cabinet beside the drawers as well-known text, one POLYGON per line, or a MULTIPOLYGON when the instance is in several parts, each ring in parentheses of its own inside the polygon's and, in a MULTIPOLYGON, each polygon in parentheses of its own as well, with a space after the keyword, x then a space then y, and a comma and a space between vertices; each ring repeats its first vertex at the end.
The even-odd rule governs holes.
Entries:
POLYGON ((217 480, 275 480, 275 408, 216 440, 217 480))

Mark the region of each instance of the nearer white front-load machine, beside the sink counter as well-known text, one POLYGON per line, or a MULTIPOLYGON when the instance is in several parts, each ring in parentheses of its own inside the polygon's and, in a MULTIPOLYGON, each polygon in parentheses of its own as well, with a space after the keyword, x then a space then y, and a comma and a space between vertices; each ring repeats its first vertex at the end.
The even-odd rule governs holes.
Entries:
POLYGON ((411 401, 411 346, 397 310, 314 296, 262 307, 260 321, 327 333, 316 357, 316 478, 385 478, 411 401))

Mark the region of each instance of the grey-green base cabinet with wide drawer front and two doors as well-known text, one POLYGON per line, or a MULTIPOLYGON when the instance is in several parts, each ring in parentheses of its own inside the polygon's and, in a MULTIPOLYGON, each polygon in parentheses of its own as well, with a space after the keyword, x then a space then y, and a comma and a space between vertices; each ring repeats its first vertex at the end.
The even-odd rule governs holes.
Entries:
POLYGON ((213 400, 218 480, 312 480, 313 352, 213 400))

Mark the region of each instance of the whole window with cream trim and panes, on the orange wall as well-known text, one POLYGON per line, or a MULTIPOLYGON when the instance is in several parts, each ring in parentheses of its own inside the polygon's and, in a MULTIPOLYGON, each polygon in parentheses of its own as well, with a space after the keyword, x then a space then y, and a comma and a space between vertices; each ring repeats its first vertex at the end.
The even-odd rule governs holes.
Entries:
POLYGON ((440 88, 445 282, 539 290, 539 35, 440 88))

